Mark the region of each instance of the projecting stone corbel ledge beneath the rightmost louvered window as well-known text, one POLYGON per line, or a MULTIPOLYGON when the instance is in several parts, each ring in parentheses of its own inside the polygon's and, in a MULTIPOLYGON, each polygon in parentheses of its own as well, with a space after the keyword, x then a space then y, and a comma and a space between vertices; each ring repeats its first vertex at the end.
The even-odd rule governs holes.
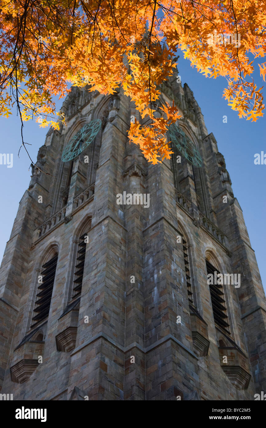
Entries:
POLYGON ((237 348, 219 348, 221 367, 230 382, 237 389, 247 389, 251 375, 248 373, 248 359, 237 348), (223 363, 227 357, 227 363, 223 363))

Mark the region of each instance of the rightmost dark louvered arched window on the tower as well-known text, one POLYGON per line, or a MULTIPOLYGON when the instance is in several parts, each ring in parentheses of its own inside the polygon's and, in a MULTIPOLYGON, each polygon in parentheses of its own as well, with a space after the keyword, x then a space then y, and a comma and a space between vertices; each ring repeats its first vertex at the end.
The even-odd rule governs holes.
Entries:
MULTIPOLYGON (((213 278, 215 277, 214 272, 218 275, 220 272, 213 265, 206 260, 207 274, 211 273, 213 278)), ((228 330, 228 316, 225 306, 225 295, 223 293, 223 286, 221 284, 212 285, 210 284, 210 297, 213 306, 213 318, 218 327, 224 330, 226 333, 231 334, 228 330)))

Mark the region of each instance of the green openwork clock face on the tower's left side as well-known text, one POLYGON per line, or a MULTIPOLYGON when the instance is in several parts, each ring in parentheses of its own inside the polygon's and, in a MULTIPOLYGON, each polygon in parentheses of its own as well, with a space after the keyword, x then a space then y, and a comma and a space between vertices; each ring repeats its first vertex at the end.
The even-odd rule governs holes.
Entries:
POLYGON ((80 131, 74 137, 71 138, 68 145, 65 147, 62 153, 62 161, 68 162, 76 158, 86 147, 92 142, 94 137, 98 134, 100 125, 100 119, 92 120, 86 123, 80 131))

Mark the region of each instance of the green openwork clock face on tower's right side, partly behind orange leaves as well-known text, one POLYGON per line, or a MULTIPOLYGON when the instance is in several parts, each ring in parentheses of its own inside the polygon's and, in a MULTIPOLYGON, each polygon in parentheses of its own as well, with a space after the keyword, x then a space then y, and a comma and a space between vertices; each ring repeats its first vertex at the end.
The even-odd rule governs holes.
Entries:
POLYGON ((186 158, 189 163, 192 163, 194 166, 202 165, 200 153, 181 128, 172 124, 168 128, 168 133, 171 142, 177 147, 181 155, 186 158))

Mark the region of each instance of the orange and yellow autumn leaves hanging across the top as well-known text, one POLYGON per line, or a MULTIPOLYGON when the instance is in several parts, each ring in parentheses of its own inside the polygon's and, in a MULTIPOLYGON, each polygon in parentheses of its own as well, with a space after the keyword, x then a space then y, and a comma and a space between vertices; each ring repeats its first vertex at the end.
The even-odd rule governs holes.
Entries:
MULTIPOLYGON (((251 74, 252 59, 265 55, 264 0, 0 0, 0 30, 4 116, 16 103, 21 120, 59 128, 53 95, 65 96, 69 83, 103 94, 122 86, 149 119, 131 123, 129 138, 157 163, 170 157, 166 130, 180 117, 174 104, 157 106, 177 49, 207 77, 225 77, 223 96, 240 117, 263 115, 251 74), (241 36, 240 45, 208 44, 215 30, 241 36)), ((259 67, 265 80, 266 62, 259 67)))

